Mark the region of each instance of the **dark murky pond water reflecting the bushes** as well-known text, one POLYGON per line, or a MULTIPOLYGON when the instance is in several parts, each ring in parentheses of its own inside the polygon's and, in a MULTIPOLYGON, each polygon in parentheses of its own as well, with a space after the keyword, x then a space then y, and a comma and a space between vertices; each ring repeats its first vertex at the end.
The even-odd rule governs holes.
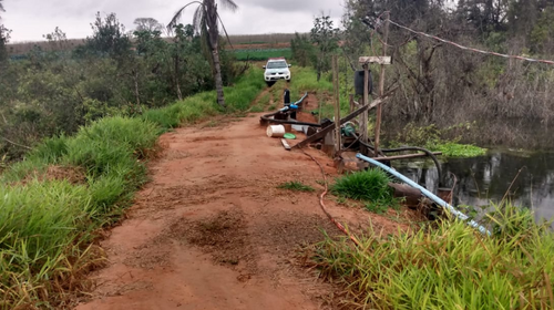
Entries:
MULTIPOLYGON (((458 177, 454 205, 478 207, 499 203, 510 188, 507 198, 532 208, 537 220, 554 217, 554 153, 492 151, 485 156, 448 158, 441 163, 443 175, 452 172, 458 177)), ((428 189, 434 192, 439 186, 432 162, 403 161, 393 162, 392 166, 428 189)))

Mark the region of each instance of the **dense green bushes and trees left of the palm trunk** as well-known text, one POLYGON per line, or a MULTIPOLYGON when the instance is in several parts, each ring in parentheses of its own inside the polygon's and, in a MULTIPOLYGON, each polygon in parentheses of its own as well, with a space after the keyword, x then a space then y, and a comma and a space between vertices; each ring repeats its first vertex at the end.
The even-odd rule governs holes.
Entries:
MULTIPOLYGON (((57 28, 44 35, 48 51, 37 46, 25 59, 0 61, 1 156, 17 161, 45 137, 215 87, 192 25, 177 24, 170 40, 153 29, 140 25, 129 35, 115 14, 98 14, 92 35, 74 50, 57 28)), ((235 66, 223 48, 220 60, 224 84, 232 85, 245 68, 235 66)))

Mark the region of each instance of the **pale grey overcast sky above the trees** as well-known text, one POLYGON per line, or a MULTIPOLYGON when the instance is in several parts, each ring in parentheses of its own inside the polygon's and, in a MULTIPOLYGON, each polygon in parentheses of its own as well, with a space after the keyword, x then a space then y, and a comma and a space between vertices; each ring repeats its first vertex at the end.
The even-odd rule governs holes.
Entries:
MULTIPOLYGON (((13 30, 11 42, 43 40, 55 27, 70 39, 92 33, 94 14, 115 12, 126 30, 135 18, 154 18, 166 24, 173 13, 189 0, 3 0, 3 24, 13 30)), ((308 32, 315 16, 324 11, 338 24, 343 0, 235 0, 235 13, 220 9, 229 34, 308 32)), ((182 22, 192 20, 194 7, 186 9, 182 22)))

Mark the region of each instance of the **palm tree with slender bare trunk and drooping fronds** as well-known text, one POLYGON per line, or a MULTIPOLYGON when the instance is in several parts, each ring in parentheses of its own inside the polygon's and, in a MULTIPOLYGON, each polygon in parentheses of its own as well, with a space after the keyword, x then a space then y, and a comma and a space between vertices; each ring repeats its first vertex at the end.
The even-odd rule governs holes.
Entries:
MULTIPOLYGON (((223 7, 230 9, 232 11, 236 11, 238 9, 238 6, 233 0, 218 0, 218 2, 223 7)), ((218 51, 219 31, 217 28, 218 28, 218 21, 220 19, 219 16, 217 14, 216 0, 202 0, 202 2, 192 1, 187 3, 175 13, 170 24, 167 24, 167 28, 172 30, 177 24, 177 21, 181 19, 181 16, 183 14, 185 8, 191 4, 199 4, 198 8, 196 8, 196 11, 194 12, 193 27, 196 30, 196 32, 202 33, 202 35, 204 35, 207 39, 208 46, 212 51, 212 65, 213 65, 212 72, 214 74, 215 89, 217 92, 217 103, 220 106, 225 107, 225 99, 223 95, 222 66, 219 63, 219 51, 218 51)))

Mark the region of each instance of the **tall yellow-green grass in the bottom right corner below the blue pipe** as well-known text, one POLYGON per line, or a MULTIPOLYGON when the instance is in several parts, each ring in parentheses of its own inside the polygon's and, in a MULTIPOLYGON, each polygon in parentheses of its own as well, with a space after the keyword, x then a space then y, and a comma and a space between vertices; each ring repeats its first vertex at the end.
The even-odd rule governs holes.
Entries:
POLYGON ((527 209, 497 209, 491 237, 448 219, 388 237, 369 230, 359 248, 318 244, 312 265, 358 309, 554 309, 553 232, 527 209))

